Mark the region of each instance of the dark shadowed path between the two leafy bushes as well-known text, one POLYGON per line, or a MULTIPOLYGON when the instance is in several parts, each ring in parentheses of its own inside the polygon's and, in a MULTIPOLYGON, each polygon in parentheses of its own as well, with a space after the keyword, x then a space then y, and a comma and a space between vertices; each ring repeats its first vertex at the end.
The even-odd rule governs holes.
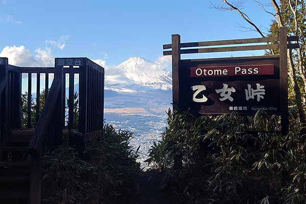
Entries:
POLYGON ((179 198, 173 197, 169 192, 159 190, 160 177, 151 171, 143 172, 137 179, 139 193, 126 203, 133 204, 183 204, 179 198))

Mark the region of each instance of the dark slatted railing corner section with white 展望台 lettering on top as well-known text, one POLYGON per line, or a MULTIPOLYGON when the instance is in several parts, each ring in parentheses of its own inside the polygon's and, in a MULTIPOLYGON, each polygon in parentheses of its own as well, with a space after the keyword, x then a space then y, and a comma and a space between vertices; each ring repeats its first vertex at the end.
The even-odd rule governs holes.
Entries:
MULTIPOLYGON (((79 78, 79 122, 74 126, 73 100, 68 100, 68 129, 78 129, 83 142, 102 134, 104 118, 104 68, 86 58, 56 59, 56 69, 63 67, 63 74, 69 76, 68 95, 73 98, 75 79, 79 78), (72 64, 71 64, 72 62, 72 64), (77 62, 77 65, 75 65, 77 62), (77 77, 75 75, 77 74, 77 77)), ((80 139, 80 138, 79 138, 80 139)), ((81 148, 81 147, 80 147, 81 148)))

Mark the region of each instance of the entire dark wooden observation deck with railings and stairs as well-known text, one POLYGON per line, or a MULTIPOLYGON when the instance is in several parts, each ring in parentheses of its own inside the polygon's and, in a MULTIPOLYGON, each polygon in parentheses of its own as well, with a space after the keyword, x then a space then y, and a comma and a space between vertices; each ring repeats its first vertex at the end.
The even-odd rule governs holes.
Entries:
POLYGON ((40 203, 43 153, 74 130, 82 157, 103 134, 104 68, 87 58, 56 58, 55 67, 0 58, 0 104, 0 203, 40 203))

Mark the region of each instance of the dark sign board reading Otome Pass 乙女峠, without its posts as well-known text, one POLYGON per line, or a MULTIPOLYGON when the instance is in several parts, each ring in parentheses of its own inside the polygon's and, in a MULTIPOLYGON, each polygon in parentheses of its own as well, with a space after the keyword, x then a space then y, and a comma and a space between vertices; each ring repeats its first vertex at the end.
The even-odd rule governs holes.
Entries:
POLYGON ((182 63, 180 108, 194 115, 281 114, 279 58, 182 63), (226 63, 226 66, 220 66, 226 63), (256 64, 256 65, 254 65, 256 64))

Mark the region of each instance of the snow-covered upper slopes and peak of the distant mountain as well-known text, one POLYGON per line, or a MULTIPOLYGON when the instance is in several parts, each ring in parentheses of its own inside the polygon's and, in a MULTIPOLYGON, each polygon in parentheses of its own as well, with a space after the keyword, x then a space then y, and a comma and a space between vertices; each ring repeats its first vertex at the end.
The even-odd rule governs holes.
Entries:
POLYGON ((106 68, 105 73, 105 88, 116 92, 172 89, 171 72, 141 57, 133 57, 116 67, 106 68))

